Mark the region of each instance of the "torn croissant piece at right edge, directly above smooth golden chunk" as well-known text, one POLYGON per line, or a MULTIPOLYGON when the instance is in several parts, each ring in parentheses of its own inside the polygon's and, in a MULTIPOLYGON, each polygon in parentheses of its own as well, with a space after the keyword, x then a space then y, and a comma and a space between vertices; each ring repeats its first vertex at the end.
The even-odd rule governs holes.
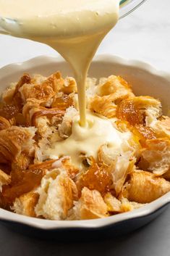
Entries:
POLYGON ((141 152, 139 168, 150 170, 158 176, 170 176, 170 141, 169 139, 152 139, 145 142, 141 152))

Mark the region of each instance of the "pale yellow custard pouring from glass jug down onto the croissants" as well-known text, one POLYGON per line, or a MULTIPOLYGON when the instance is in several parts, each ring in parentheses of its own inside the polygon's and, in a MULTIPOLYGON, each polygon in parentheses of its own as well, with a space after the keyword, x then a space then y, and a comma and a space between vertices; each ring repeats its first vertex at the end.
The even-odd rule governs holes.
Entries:
POLYGON ((58 156, 71 155, 71 150, 75 150, 77 156, 77 143, 84 141, 85 144, 86 141, 87 144, 88 141, 93 148, 91 155, 94 156, 104 141, 109 142, 110 138, 114 142, 116 133, 110 127, 110 121, 101 122, 102 118, 86 113, 85 79, 99 44, 119 19, 119 0, 0 0, 0 17, 0 27, 9 35, 53 47, 75 72, 80 120, 73 120, 75 133, 72 133, 72 143, 70 139, 68 144, 65 140, 66 148, 71 146, 70 152, 61 145, 58 148, 63 150, 57 152, 55 149, 54 153, 58 156), (100 135, 97 135, 98 125, 95 125, 98 122, 100 135), (106 122, 110 127, 107 133, 106 122), (93 128, 90 124, 93 124, 93 128), (83 139, 78 136, 77 140, 77 133, 81 133, 82 129, 86 130, 83 139), (95 145, 92 146, 94 139, 95 145))

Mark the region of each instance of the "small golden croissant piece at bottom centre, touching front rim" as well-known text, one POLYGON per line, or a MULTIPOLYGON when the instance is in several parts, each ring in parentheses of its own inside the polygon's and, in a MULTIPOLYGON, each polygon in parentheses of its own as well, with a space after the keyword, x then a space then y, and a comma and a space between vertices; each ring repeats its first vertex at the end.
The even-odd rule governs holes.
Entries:
POLYGON ((75 202, 71 218, 76 220, 88 220, 104 218, 107 215, 107 205, 101 197, 100 192, 84 187, 80 199, 75 202))

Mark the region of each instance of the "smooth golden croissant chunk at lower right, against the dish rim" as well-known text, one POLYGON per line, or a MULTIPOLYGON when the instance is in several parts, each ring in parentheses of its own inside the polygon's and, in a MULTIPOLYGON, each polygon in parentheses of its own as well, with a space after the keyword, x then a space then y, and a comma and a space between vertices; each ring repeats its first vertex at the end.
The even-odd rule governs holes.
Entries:
POLYGON ((136 171, 129 174, 121 196, 141 204, 152 202, 170 191, 170 182, 154 173, 136 171))

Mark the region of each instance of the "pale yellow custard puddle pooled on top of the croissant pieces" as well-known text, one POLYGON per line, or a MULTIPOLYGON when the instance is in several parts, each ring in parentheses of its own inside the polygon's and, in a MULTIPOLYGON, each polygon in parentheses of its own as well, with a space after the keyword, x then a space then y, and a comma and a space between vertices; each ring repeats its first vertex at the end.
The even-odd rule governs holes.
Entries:
POLYGON ((72 134, 64 141, 58 141, 46 151, 50 158, 69 156, 77 168, 83 169, 83 157, 98 158, 98 149, 106 145, 114 153, 122 148, 124 141, 131 135, 120 133, 114 128, 113 121, 99 117, 92 112, 87 113, 86 126, 79 125, 79 116, 75 115, 72 120, 72 134))

